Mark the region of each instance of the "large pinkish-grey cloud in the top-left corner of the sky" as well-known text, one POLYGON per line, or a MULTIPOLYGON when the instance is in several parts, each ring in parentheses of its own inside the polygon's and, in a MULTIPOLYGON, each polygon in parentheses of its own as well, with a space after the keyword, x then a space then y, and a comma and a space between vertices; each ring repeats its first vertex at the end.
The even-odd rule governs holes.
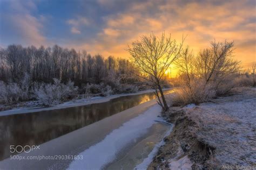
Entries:
POLYGON ((46 22, 46 17, 40 15, 37 18, 31 14, 32 11, 37 10, 33 1, 9 1, 6 3, 6 8, 9 11, 4 13, 2 17, 9 25, 8 32, 11 34, 4 36, 9 37, 9 39, 15 37, 11 43, 34 46, 49 44, 42 33, 44 29, 42 22, 46 22))

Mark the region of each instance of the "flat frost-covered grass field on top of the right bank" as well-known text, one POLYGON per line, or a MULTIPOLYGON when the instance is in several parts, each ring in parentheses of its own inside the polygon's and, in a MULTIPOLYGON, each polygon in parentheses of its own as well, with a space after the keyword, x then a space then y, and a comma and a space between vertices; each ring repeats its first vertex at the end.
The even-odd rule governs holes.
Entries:
POLYGON ((188 108, 186 115, 196 121, 191 131, 215 148, 206 165, 255 166, 256 89, 233 89, 232 96, 188 108))

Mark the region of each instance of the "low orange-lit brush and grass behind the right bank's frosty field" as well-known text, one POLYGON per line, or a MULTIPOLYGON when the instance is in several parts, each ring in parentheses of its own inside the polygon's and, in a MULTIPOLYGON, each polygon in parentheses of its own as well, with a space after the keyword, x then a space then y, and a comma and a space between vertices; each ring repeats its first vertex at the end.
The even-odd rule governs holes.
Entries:
POLYGON ((215 97, 227 95, 232 88, 254 87, 255 75, 228 75, 221 81, 209 81, 193 77, 189 82, 180 80, 180 88, 169 98, 169 104, 173 107, 184 106, 190 103, 200 104, 209 102, 215 97))

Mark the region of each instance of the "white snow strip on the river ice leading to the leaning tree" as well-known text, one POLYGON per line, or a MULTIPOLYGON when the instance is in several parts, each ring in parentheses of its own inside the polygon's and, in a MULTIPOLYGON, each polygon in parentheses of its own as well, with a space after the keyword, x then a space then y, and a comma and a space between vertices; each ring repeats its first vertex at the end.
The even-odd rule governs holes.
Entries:
POLYGON ((146 110, 138 117, 125 122, 118 129, 109 133, 102 141, 89 147, 79 155, 83 155, 82 160, 71 162, 69 169, 100 169, 104 165, 116 159, 116 155, 122 148, 136 141, 136 139, 156 123, 160 115, 161 108, 158 104, 146 110))

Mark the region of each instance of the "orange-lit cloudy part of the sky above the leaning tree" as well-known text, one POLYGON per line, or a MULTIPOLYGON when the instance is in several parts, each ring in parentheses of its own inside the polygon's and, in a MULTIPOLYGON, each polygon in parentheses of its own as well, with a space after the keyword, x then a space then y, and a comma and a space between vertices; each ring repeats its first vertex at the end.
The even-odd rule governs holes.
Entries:
MULTIPOLYGON (((185 44, 193 48, 194 53, 210 46, 210 41, 214 39, 234 40, 234 58, 248 67, 256 61, 255 2, 138 2, 123 12, 106 17, 105 27, 98 33, 95 42, 75 47, 92 49, 88 51, 104 56, 129 56, 125 51, 127 44, 139 39, 142 34, 165 31, 172 33, 178 41, 183 34, 187 35, 185 44)), ((102 3, 110 5, 108 1, 102 3)))

